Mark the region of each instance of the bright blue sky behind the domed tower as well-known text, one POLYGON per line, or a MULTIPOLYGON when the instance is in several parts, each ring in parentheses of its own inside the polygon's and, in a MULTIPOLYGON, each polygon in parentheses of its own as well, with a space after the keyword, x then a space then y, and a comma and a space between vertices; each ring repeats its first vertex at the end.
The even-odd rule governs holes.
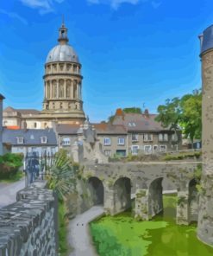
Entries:
POLYGON ((212 0, 9 0, 0 3, 4 107, 41 110, 44 63, 62 15, 91 121, 118 107, 156 112, 201 87, 197 35, 213 23, 212 0))

